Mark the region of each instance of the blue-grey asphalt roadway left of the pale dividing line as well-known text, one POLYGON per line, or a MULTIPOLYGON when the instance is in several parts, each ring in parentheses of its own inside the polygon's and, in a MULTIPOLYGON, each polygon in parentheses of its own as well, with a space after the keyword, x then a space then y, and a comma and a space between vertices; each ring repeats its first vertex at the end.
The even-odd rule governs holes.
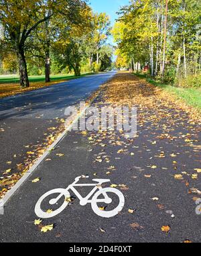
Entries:
POLYGON ((43 142, 48 128, 59 125, 56 118, 64 117, 65 108, 84 100, 114 74, 81 77, 0 99, 0 176, 6 169, 15 173, 26 152, 43 142))

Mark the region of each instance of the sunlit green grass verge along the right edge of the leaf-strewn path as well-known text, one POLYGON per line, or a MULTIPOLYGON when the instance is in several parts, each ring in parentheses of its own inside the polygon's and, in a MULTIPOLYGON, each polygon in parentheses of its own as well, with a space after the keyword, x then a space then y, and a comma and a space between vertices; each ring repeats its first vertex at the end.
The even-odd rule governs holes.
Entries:
POLYGON ((195 88, 185 88, 185 87, 175 87, 172 85, 167 85, 161 83, 160 81, 155 81, 149 75, 135 73, 139 78, 146 79, 147 82, 160 87, 161 89, 167 91, 167 93, 172 93, 176 96, 177 99, 182 99, 187 105, 190 105, 199 111, 201 111, 201 89, 195 88))

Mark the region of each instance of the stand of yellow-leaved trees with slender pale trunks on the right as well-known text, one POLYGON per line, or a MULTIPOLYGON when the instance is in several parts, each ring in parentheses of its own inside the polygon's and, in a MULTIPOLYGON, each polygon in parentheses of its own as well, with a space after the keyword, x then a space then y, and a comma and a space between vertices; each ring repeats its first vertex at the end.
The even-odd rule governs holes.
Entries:
POLYGON ((131 71, 137 62, 149 65, 152 76, 172 83, 176 74, 185 78, 198 73, 200 0, 169 0, 168 22, 167 0, 135 0, 119 15, 113 36, 131 71))

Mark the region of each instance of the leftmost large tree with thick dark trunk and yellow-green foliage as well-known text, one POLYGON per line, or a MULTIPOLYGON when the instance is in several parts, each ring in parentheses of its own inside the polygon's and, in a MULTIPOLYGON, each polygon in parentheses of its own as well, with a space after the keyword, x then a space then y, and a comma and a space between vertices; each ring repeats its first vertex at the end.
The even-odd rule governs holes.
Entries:
POLYGON ((50 19, 52 13, 46 13, 46 9, 47 7, 51 9, 55 5, 54 1, 42 0, 0 1, 0 20, 3 24, 5 39, 17 55, 21 87, 29 87, 25 60, 26 40, 42 22, 50 19))

